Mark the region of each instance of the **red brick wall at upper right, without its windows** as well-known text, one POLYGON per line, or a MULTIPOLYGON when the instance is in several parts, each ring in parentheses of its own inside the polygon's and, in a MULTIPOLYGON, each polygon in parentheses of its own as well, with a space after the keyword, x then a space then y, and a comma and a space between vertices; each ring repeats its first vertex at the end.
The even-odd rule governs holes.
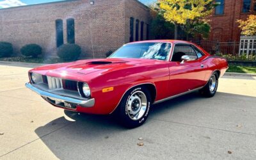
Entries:
MULTIPOLYGON (((253 0, 251 9, 253 10, 253 0)), ((214 15, 211 19, 211 33, 209 40, 220 42, 239 41, 241 30, 238 28, 237 19, 246 19, 252 13, 242 13, 243 0, 225 0, 224 15, 214 15)))

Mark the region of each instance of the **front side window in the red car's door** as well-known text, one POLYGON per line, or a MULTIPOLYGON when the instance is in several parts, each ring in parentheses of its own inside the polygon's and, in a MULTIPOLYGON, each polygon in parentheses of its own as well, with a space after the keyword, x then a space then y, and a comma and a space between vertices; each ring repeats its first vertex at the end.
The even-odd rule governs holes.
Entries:
POLYGON ((191 61, 198 59, 196 52, 191 45, 188 45, 188 44, 175 45, 172 61, 182 61, 181 57, 184 55, 189 56, 191 61))

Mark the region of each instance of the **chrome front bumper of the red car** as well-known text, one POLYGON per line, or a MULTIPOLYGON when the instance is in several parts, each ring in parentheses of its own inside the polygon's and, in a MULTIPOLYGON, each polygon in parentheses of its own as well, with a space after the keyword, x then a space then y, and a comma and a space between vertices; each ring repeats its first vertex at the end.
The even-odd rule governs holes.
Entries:
POLYGON ((34 92, 41 95, 44 99, 51 99, 56 100, 58 102, 68 103, 68 104, 74 104, 78 105, 84 108, 90 108, 93 107, 95 104, 95 99, 88 99, 88 100, 80 100, 80 99, 74 99, 71 97, 65 97, 63 95, 56 95, 49 92, 45 92, 43 90, 39 90, 38 88, 35 88, 31 83, 26 83, 25 86, 29 88, 30 90, 33 90, 34 92))

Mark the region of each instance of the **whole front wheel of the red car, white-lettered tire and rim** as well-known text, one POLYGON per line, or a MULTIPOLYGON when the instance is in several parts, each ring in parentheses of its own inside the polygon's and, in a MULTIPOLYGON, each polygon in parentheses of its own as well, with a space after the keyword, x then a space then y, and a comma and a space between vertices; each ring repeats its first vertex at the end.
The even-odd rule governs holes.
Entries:
POLYGON ((125 127, 139 127, 147 120, 150 104, 151 97, 147 88, 133 88, 125 93, 118 105, 118 119, 125 127))

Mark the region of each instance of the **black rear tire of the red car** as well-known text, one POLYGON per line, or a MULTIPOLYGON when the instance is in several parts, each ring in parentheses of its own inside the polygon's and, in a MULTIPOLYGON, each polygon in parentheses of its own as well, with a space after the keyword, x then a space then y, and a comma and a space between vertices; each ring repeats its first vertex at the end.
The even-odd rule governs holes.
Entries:
POLYGON ((217 92, 218 84, 219 84, 219 76, 218 76, 218 73, 217 73, 217 72, 214 72, 214 73, 211 75, 211 77, 210 77, 208 83, 207 83, 207 84, 204 86, 204 88, 202 88, 199 92, 200 92, 204 97, 213 97, 213 96, 216 94, 216 92, 217 92), (215 84, 215 86, 214 86, 214 89, 212 89, 212 88, 211 88, 211 86, 212 86, 212 78, 214 79, 214 77, 215 77, 215 79, 216 79, 216 84, 215 84))

